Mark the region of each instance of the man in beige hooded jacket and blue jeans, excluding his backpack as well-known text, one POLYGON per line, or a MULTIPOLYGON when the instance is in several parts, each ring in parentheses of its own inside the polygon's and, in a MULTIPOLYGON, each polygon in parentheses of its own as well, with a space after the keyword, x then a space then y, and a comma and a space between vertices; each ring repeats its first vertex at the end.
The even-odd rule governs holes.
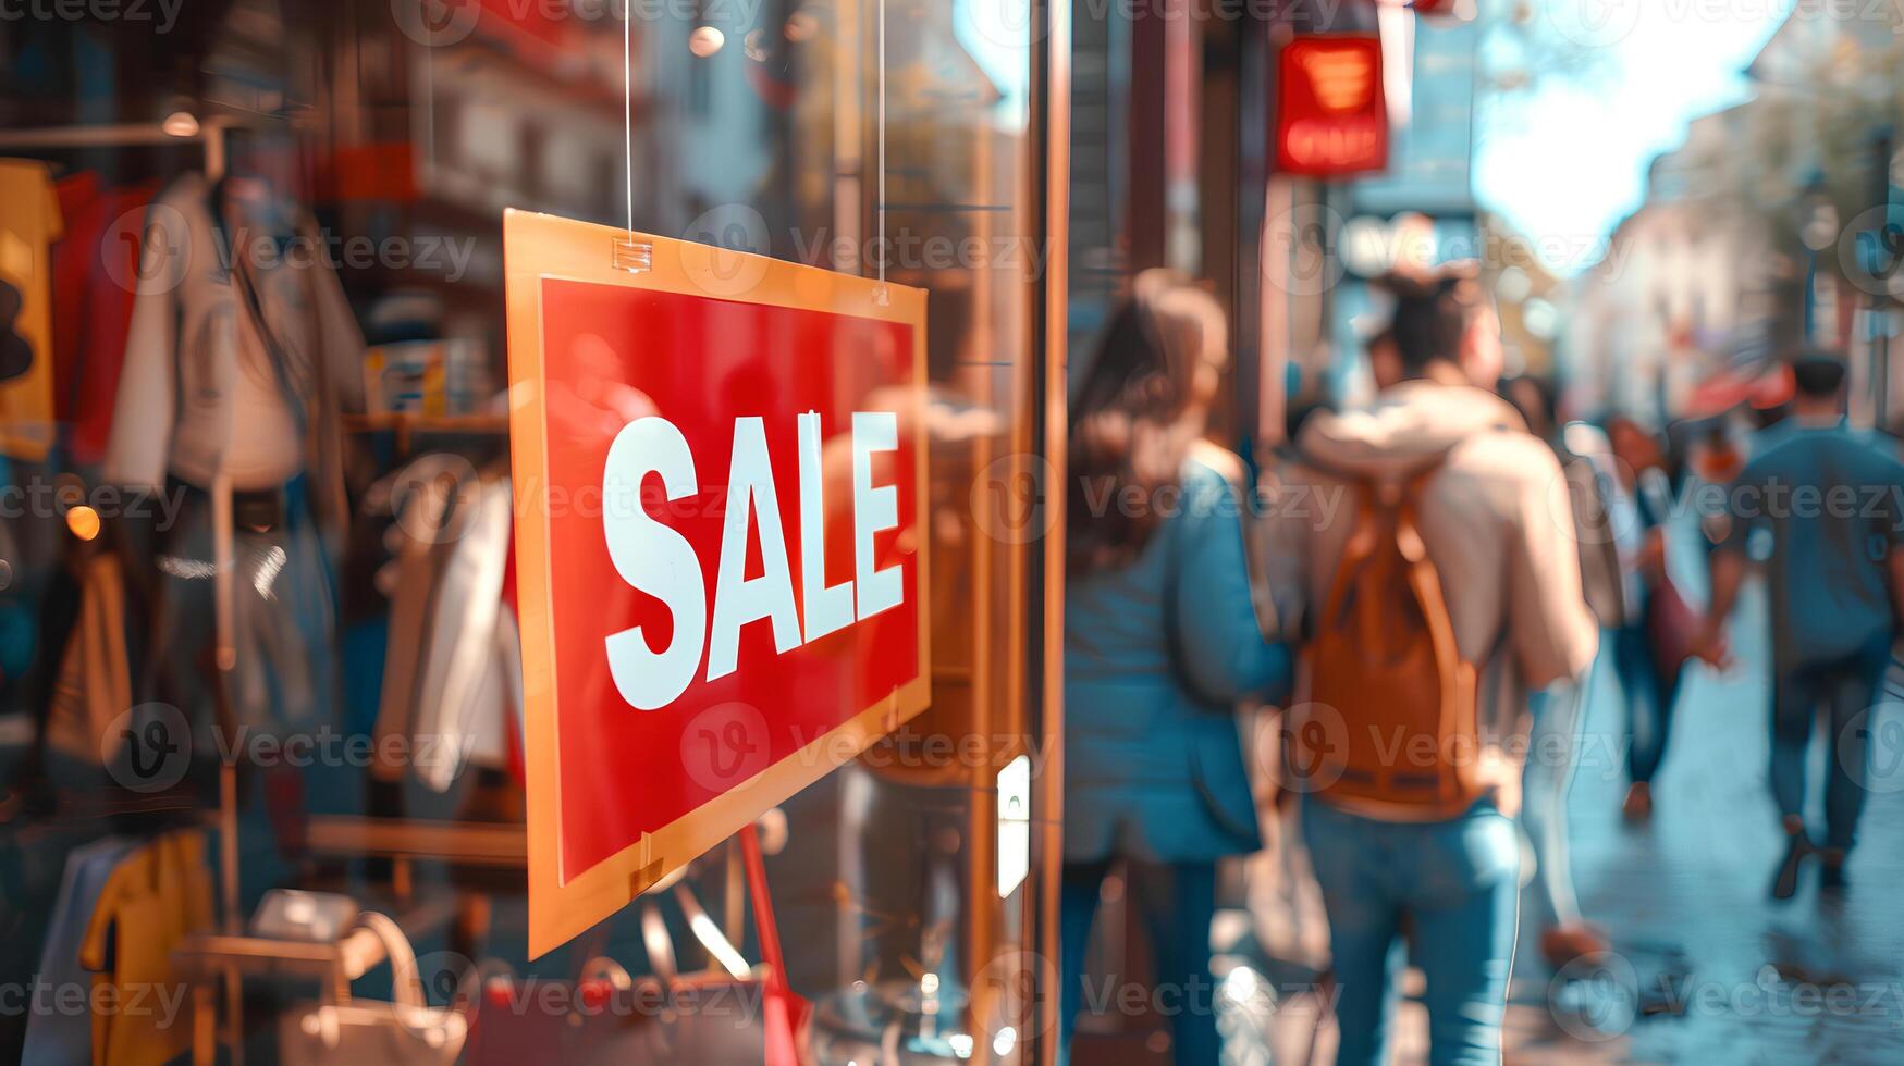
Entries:
MULTIPOLYGON (((1375 405, 1319 415, 1297 442, 1316 470, 1312 491, 1356 499, 1365 484, 1401 484, 1432 470, 1420 487, 1418 527, 1460 659, 1483 678, 1504 672, 1514 681, 1508 691, 1577 678, 1599 638, 1580 590, 1567 482, 1519 413, 1474 386, 1498 375, 1498 320, 1470 272, 1398 278, 1392 287, 1388 343, 1371 352, 1380 386, 1375 405)), ((1304 523, 1293 541, 1308 603, 1319 605, 1356 531, 1356 508, 1335 508, 1327 522, 1283 522, 1304 523)), ((1299 701, 1300 691, 1299 683, 1299 701)), ((1500 1060, 1519 891, 1514 813, 1525 706, 1517 695, 1483 706, 1479 771, 1489 792, 1466 815, 1384 820, 1306 798, 1304 836, 1329 912, 1340 1064, 1373 1066, 1386 1056, 1390 959, 1403 914, 1413 923, 1415 963, 1428 977, 1430 1062, 1500 1060)))

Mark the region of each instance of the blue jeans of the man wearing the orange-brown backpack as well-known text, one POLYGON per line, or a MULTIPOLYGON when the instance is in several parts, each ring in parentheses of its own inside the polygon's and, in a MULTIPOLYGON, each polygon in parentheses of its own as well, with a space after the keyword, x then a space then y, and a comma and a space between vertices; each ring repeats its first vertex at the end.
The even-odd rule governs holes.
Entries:
POLYGON ((1378 822, 1312 796, 1302 836, 1329 912, 1337 1064, 1386 1062, 1407 956, 1428 978, 1430 1064, 1498 1064, 1521 870, 1514 820, 1483 800, 1445 822, 1378 822))

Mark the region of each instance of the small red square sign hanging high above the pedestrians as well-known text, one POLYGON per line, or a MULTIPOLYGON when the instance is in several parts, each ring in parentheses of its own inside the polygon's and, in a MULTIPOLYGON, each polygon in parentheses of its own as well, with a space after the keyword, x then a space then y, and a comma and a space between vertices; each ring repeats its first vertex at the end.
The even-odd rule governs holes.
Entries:
POLYGON ((1382 44, 1375 34, 1299 36, 1278 70, 1276 166, 1340 177, 1388 166, 1382 44))

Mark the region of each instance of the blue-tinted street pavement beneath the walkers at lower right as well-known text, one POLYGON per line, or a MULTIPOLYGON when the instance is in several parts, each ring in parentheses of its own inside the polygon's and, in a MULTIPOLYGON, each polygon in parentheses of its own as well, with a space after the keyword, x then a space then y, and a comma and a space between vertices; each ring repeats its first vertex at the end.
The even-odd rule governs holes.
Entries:
MULTIPOLYGON (((1580 906, 1613 938, 1556 978, 1523 929, 1508 1060, 1904 1062, 1904 704, 1870 720, 1872 771, 1851 891, 1771 898, 1784 836, 1767 782, 1769 645, 1763 590, 1733 626, 1735 666, 1695 666, 1681 695, 1651 824, 1620 819, 1620 702, 1603 678, 1571 794, 1580 906), (1596 758, 1597 756, 1597 758, 1596 758)), ((1603 672, 1605 674, 1605 672, 1603 672)), ((1813 744, 1807 784, 1826 758, 1813 744)), ((1811 824, 1822 832, 1815 800, 1811 824)))

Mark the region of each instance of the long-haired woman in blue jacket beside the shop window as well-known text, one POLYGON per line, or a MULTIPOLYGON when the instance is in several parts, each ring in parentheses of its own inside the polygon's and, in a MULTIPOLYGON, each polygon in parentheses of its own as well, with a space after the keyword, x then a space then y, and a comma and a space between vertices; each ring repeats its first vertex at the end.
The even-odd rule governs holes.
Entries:
MULTIPOLYGON (((1243 556, 1241 463, 1203 442, 1228 358, 1217 301, 1139 274, 1070 415, 1064 594, 1064 1047, 1099 891, 1123 864, 1175 1062, 1219 1060, 1217 860, 1260 847, 1234 706, 1278 699, 1243 556)), ((1125 980, 1127 975, 1118 975, 1125 980)), ((1101 1009, 1116 1009, 1112 997, 1101 1009)))

